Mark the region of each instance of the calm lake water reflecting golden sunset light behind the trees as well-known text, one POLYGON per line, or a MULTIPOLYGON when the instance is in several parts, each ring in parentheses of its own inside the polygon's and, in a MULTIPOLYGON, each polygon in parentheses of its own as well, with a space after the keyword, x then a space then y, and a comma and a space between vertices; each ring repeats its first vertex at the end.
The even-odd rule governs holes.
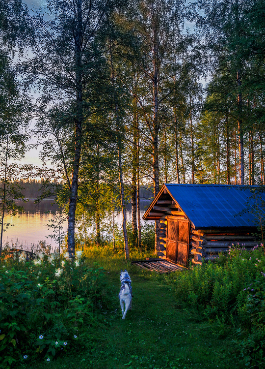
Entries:
MULTIPOLYGON (((141 217, 145 213, 150 202, 141 203, 141 217)), ((53 204, 53 200, 43 200, 38 206, 34 200, 27 203, 18 202, 24 207, 24 213, 19 215, 6 215, 4 222, 10 223, 9 228, 3 233, 3 245, 8 242, 9 246, 30 249, 32 245, 37 245, 39 241, 46 241, 47 244, 55 245, 55 241, 49 237, 53 231, 48 227, 51 220, 58 215, 58 206, 53 204), (53 212, 53 213, 51 213, 53 212)), ((128 205, 127 219, 132 219, 132 211, 128 205)), ((115 212, 115 222, 122 223, 122 213, 115 212)), ((63 230, 67 230, 67 221, 63 222, 63 230)))

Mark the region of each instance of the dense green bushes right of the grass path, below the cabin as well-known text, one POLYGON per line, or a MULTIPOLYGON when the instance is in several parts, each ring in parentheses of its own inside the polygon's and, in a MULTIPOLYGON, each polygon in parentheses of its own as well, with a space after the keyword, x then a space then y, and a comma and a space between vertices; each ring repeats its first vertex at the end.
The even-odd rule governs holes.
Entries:
POLYGON ((246 366, 262 368, 265 357, 265 254, 233 247, 216 263, 204 263, 176 280, 181 304, 197 307, 219 336, 233 328, 234 342, 246 366))

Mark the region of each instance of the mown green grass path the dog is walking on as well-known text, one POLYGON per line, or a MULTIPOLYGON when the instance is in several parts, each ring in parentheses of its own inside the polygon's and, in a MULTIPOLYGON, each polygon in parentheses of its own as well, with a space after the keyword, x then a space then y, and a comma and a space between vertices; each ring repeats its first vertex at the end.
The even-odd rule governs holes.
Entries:
MULTIPOLYGON (((91 261, 92 262, 92 261, 91 261)), ((181 310, 164 275, 131 266, 122 259, 98 260, 109 280, 116 310, 106 314, 106 330, 76 356, 62 356, 30 369, 187 369, 240 368, 231 339, 218 338, 203 314, 181 310), (118 300, 120 269, 132 278, 132 311, 121 320, 118 300)), ((185 272, 175 272, 177 273, 185 272)), ((87 339, 90 339, 89 337, 87 339)), ((24 366, 24 368, 29 368, 24 366)))

